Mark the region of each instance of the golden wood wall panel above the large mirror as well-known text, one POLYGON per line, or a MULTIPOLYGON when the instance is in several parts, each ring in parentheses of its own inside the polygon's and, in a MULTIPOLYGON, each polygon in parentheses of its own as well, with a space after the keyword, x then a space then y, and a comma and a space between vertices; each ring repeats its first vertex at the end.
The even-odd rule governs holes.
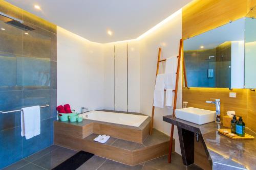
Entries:
POLYGON ((182 38, 187 39, 247 14, 247 0, 195 0, 182 9, 182 38))

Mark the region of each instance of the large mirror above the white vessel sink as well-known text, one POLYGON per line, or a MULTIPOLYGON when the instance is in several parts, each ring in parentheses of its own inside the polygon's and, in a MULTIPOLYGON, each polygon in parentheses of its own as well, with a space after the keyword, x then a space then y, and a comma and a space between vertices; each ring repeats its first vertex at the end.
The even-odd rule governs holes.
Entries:
POLYGON ((244 88, 244 25, 241 18, 184 41, 188 87, 244 88))

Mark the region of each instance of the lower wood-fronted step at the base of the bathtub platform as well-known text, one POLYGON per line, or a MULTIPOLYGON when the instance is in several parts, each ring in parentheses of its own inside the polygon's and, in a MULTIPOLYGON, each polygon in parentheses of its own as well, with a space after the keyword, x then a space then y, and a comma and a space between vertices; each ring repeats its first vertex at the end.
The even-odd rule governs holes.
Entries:
POLYGON ((152 135, 148 135, 142 143, 111 137, 108 142, 102 144, 93 141, 97 136, 98 134, 93 133, 85 138, 80 138, 58 133, 55 130, 54 143, 74 150, 87 151, 131 166, 168 153, 169 136, 155 129, 153 129, 152 135))

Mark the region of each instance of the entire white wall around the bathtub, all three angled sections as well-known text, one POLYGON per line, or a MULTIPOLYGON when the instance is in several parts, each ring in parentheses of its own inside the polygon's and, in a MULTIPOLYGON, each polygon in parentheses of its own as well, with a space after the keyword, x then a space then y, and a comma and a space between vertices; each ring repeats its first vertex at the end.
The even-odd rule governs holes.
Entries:
MULTIPOLYGON (((162 48, 161 59, 176 56, 180 38, 181 10, 158 29, 135 41, 93 43, 58 28, 58 104, 70 103, 75 109, 86 106, 114 110, 116 107, 116 110, 128 109, 151 116, 158 48, 162 48), (65 68, 67 63, 70 69, 65 68), (72 81, 67 81, 67 77, 72 81)), ((164 67, 161 63, 160 73, 164 67)), ((181 108, 181 101, 180 75, 177 108, 181 108)), ((154 128, 170 135, 171 125, 163 122, 162 116, 172 113, 166 107, 156 108, 154 128)), ((180 154, 176 127, 174 138, 176 152, 180 154)))

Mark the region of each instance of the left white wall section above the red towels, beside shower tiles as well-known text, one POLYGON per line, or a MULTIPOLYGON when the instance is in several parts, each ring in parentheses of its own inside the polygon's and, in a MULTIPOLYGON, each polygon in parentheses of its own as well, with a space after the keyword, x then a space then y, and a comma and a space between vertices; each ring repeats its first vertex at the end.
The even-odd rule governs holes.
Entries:
POLYGON ((103 45, 57 27, 57 105, 104 108, 103 45))

